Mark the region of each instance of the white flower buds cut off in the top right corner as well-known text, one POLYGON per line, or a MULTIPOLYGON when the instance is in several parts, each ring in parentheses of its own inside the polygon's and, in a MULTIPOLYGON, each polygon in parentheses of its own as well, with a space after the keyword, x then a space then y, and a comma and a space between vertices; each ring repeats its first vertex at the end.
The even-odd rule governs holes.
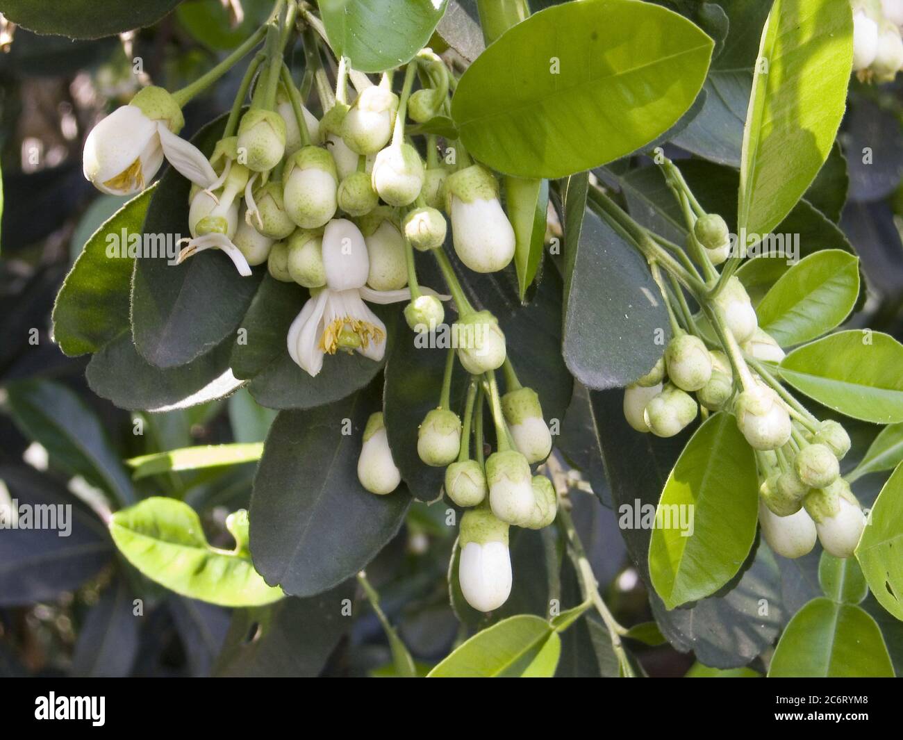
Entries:
POLYGON ((852 69, 889 82, 903 68, 903 0, 852 0, 852 69))

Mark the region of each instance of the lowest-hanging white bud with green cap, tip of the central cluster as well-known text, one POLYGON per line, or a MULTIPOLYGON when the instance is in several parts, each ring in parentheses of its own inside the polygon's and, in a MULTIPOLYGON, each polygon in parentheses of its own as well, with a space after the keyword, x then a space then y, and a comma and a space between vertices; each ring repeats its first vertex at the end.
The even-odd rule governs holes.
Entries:
POLYGON ((498 609, 511 594, 508 525, 491 511, 470 509, 461 517, 458 543, 461 594, 480 612, 498 609))

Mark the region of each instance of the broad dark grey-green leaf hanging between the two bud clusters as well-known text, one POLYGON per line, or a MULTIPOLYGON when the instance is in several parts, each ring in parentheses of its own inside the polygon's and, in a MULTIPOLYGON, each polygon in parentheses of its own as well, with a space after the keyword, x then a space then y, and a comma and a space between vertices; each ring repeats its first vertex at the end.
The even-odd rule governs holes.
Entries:
POLYGON ((569 178, 564 200, 562 352, 590 389, 622 388, 661 357, 670 336, 665 304, 646 260, 591 209, 586 173, 569 178), (617 347, 618 351, 611 351, 617 347))

